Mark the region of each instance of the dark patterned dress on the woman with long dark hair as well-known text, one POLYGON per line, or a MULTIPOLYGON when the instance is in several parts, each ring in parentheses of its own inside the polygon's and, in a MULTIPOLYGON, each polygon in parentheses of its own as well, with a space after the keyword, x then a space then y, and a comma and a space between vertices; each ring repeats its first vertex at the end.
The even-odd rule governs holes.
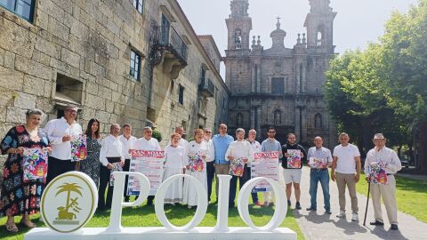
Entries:
POLYGON ((87 156, 86 159, 80 162, 80 171, 85 172, 95 182, 97 188, 100 184, 100 151, 101 140, 93 139, 90 136, 86 137, 87 156))

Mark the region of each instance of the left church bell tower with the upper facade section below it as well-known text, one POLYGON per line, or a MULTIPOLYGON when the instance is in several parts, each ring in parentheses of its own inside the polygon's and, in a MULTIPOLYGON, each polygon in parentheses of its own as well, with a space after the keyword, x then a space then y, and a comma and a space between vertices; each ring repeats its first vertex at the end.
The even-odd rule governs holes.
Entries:
POLYGON ((251 49, 249 36, 252 19, 247 10, 249 0, 231 0, 230 16, 226 19, 228 28, 228 47, 225 51, 226 81, 231 92, 251 91, 251 71, 248 61, 251 49))

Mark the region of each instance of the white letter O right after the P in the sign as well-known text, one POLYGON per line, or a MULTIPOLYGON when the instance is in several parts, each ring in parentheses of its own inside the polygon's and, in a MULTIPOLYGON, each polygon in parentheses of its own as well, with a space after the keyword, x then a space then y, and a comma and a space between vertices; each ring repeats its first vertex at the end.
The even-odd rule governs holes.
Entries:
POLYGON ((195 177, 187 175, 187 174, 177 174, 165 180, 160 187, 157 188, 155 207, 154 207, 157 215, 157 219, 162 223, 165 228, 176 230, 176 231, 189 231, 192 228, 196 228, 198 224, 205 218, 205 214, 207 211, 207 193, 202 183, 197 180, 195 177), (191 185, 196 187, 197 190, 197 211, 194 214, 193 219, 189 221, 186 225, 182 227, 174 226, 169 220, 166 218, 165 214, 165 194, 167 188, 171 186, 174 180, 179 178, 189 179, 191 180, 191 185))

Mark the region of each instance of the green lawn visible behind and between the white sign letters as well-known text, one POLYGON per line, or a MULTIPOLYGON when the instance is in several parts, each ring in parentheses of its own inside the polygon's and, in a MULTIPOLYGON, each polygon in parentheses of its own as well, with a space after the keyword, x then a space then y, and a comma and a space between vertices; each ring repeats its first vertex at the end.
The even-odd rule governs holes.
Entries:
MULTIPOLYGON (((214 193, 213 193, 214 196, 214 193)), ((262 195, 260 194, 260 201, 262 200, 262 195)), ((237 198, 237 197, 236 197, 237 198)), ((193 218, 196 209, 191 210, 187 209, 186 206, 177 204, 176 206, 165 205, 166 216, 173 225, 183 226, 193 218)), ((214 227, 216 224, 216 212, 217 206, 214 204, 209 204, 204 220, 198 225, 200 227, 214 227)), ((257 226, 262 226, 267 224, 271 220, 273 215, 274 208, 272 207, 259 207, 254 204, 249 206, 249 212, 252 215, 252 220, 257 226)), ((85 228, 96 228, 96 227, 108 227, 109 226, 109 211, 96 212, 93 216, 93 219, 85 226, 85 228)), ((36 214, 31 217, 32 220, 39 227, 45 227, 42 222, 38 220, 39 215, 36 214)), ((15 218, 15 222, 20 220, 19 217, 15 218)), ((4 223, 6 218, 0 219, 0 239, 10 239, 10 240, 21 240, 24 238, 24 234, 28 231, 28 228, 23 228, 18 225, 18 228, 22 228, 17 234, 10 234, 4 228, 4 223)), ((156 213, 154 212, 154 207, 150 207, 146 204, 142 204, 139 207, 133 208, 124 208, 122 214, 122 225, 124 227, 160 227, 161 224, 157 220, 156 213)), ((229 211, 229 227, 242 227, 246 226, 243 220, 240 219, 238 215, 238 209, 233 208, 229 211)), ((289 209, 286 215, 286 220, 282 223, 280 227, 290 228, 294 230, 298 236, 298 240, 305 239, 302 235, 302 232, 298 226, 298 223, 295 219, 294 213, 289 209)))

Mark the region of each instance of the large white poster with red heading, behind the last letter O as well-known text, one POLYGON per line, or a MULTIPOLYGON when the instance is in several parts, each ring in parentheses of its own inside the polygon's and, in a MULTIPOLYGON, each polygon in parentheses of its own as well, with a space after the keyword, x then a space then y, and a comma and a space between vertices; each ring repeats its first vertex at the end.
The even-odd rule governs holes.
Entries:
MULTIPOLYGON (((251 178, 265 177, 278 181, 279 152, 255 153, 251 167, 251 178)), ((253 192, 270 192, 272 188, 267 181, 259 182, 253 192)))

